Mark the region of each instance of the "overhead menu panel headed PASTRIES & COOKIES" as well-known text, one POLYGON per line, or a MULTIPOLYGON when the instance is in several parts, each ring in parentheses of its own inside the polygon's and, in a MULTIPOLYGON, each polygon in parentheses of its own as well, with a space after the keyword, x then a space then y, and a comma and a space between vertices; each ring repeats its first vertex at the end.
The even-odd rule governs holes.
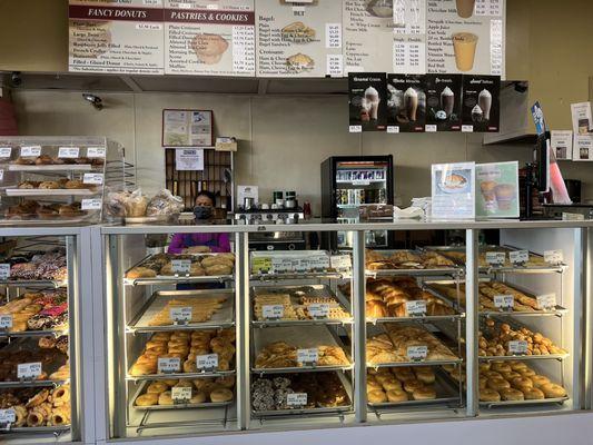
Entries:
POLYGON ((167 75, 255 76, 254 0, 165 0, 167 75))

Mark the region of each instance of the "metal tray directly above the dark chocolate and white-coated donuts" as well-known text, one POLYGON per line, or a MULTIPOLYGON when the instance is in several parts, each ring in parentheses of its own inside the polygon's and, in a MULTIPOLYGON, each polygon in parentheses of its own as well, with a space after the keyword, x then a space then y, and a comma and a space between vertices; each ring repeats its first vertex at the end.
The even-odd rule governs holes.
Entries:
POLYGON ((352 369, 353 363, 348 349, 339 340, 339 338, 332 333, 328 326, 287 326, 287 327, 270 327, 267 329, 253 329, 254 340, 251 342, 251 372, 256 374, 286 374, 286 373, 308 373, 322 370, 344 370, 352 369), (264 347, 275 342, 286 342, 289 345, 297 346, 297 348, 316 348, 318 346, 339 346, 346 354, 348 365, 332 365, 332 366, 293 366, 286 368, 256 368, 255 360, 257 355, 264 347))

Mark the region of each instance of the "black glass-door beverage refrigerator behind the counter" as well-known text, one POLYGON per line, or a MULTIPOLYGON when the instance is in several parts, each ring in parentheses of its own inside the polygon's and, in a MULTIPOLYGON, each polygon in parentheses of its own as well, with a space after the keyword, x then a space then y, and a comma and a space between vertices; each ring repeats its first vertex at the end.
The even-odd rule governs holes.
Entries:
MULTIPOLYGON (((360 207, 394 202, 393 156, 333 156, 322 162, 322 217, 356 222, 360 207)), ((391 218, 389 218, 391 219, 391 218)), ((346 231, 324 233, 325 249, 350 249, 346 231)), ((393 233, 369 230, 366 246, 392 248, 393 233)))

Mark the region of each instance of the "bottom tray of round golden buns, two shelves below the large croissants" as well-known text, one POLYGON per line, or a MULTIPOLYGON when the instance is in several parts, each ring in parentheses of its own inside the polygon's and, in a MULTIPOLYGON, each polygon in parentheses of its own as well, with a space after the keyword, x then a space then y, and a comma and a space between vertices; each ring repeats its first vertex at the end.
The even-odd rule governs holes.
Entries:
MULTIPOLYGON (((453 365, 452 365, 453 366, 453 365)), ((368 406, 375 411, 432 404, 461 406, 459 385, 439 366, 368 368, 368 406)))

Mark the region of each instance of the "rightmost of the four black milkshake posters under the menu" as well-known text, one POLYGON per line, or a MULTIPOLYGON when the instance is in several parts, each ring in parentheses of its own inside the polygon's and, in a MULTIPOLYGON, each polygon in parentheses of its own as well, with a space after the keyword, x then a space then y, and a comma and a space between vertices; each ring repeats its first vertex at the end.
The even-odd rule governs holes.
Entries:
POLYGON ((462 131, 498 131, 500 93, 497 76, 463 76, 462 131))

